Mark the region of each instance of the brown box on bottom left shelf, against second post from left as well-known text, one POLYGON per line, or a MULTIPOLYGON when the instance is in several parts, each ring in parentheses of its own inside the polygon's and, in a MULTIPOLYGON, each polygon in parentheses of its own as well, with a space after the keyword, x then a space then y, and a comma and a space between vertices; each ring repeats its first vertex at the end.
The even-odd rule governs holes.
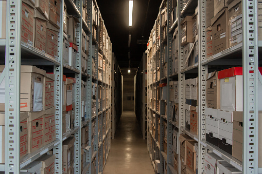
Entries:
POLYGON ((55 160, 54 154, 44 154, 37 161, 42 161, 41 174, 55 173, 55 160))

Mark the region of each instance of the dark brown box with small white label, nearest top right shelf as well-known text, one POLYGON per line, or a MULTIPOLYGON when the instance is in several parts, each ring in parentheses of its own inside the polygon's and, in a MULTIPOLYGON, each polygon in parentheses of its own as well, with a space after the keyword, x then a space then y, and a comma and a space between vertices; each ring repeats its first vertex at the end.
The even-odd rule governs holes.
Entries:
POLYGON ((213 54, 228 48, 228 10, 225 8, 212 18, 213 54))

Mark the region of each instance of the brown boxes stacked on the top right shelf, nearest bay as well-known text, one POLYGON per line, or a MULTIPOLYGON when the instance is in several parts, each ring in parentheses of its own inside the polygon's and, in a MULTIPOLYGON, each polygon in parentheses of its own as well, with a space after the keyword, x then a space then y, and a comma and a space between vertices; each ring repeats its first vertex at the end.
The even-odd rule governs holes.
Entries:
POLYGON ((241 0, 206 2, 206 55, 209 57, 242 42, 242 4, 241 0))

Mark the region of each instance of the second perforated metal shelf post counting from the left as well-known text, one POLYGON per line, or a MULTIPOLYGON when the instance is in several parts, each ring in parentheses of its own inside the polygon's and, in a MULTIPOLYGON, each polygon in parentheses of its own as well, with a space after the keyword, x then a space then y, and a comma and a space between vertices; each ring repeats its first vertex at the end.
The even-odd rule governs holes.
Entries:
MULTIPOLYGON (((61 1, 60 14, 63 14, 64 1, 61 1)), ((54 66, 55 74, 55 107, 56 107, 56 139, 60 140, 60 143, 54 147, 54 154, 56 155, 55 160, 55 172, 62 173, 62 144, 63 144, 63 133, 62 133, 62 114, 63 114, 63 17, 60 18, 60 32, 58 34, 58 60, 60 65, 54 66)))

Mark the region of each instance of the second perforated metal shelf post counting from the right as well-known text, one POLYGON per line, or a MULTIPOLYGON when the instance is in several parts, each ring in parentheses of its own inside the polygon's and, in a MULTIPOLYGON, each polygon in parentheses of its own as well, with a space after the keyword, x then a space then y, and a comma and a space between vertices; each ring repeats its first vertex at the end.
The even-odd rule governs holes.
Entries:
MULTIPOLYGON (((207 149, 202 145, 201 141, 205 140, 205 106, 206 106, 206 74, 208 73, 207 65, 201 65, 201 62, 206 58, 206 32, 205 32, 205 11, 206 0, 198 1, 198 172, 204 172, 205 153, 207 149)), ((196 41, 197 42, 197 41, 196 41)))

